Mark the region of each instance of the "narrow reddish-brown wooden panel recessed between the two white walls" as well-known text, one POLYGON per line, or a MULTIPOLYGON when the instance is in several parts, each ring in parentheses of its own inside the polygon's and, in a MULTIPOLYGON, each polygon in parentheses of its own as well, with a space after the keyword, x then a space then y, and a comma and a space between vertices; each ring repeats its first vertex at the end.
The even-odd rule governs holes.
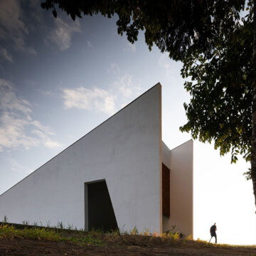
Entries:
POLYGON ((170 216, 170 170, 162 164, 163 215, 170 216))

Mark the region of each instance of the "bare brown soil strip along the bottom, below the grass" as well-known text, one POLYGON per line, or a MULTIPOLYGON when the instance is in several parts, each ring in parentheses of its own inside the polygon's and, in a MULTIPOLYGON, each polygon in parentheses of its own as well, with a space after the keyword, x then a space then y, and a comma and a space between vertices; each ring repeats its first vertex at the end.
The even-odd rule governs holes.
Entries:
POLYGON ((256 256, 255 247, 207 246, 194 241, 140 241, 138 238, 107 242, 104 245, 77 245, 29 239, 1 239, 0 255, 241 255, 256 256))

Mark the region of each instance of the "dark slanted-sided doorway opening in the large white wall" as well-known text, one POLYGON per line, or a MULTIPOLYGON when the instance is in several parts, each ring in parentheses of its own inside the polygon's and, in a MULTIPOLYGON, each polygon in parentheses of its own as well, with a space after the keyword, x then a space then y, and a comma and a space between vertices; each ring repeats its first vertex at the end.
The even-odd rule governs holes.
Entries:
POLYGON ((106 232, 117 228, 106 181, 85 183, 85 229, 106 232))

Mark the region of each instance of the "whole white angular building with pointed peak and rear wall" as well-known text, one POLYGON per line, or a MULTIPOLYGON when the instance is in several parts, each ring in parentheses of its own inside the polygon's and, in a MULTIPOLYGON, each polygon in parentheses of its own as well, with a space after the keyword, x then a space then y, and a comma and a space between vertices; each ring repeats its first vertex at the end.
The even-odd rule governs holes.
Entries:
POLYGON ((193 235, 193 141, 161 140, 158 83, 0 196, 0 220, 193 235))

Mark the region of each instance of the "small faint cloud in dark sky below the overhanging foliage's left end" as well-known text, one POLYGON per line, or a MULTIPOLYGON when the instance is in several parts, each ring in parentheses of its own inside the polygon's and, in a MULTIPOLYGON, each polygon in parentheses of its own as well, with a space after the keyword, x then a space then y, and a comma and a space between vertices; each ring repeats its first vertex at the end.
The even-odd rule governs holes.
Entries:
POLYGON ((55 28, 49 33, 46 43, 50 41, 57 45, 60 50, 67 50, 71 46, 71 37, 75 32, 80 32, 78 21, 66 23, 61 18, 56 18, 55 28))

